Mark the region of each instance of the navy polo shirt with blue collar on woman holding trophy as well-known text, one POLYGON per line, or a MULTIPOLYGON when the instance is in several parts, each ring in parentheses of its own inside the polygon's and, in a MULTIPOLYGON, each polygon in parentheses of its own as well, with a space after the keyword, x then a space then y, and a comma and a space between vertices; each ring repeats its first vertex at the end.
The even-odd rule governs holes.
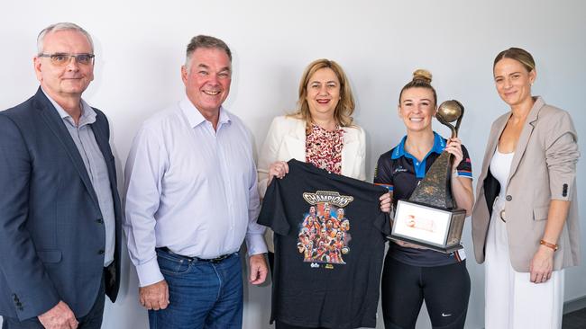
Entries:
MULTIPOLYGON (((417 184, 426 176, 437 156, 444 152, 446 140, 434 132, 434 146, 422 161, 405 151, 405 140, 401 139, 397 147, 379 157, 374 172, 374 183, 393 192, 393 206, 397 200, 407 200, 415 191, 417 184)), ((457 175, 472 179, 472 162, 468 150, 462 145, 462 162, 456 168, 457 175)), ((454 253, 440 253, 434 250, 406 248, 391 243, 389 255, 399 262, 414 266, 442 266, 462 262, 466 258, 464 250, 454 253)))

